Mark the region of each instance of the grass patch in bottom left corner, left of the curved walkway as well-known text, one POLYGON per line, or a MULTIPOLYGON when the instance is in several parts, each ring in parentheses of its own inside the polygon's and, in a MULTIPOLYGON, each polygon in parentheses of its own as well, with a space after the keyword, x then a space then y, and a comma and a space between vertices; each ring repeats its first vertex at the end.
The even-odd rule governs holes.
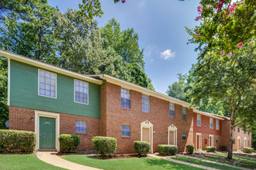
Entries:
POLYGON ((64 169, 42 162, 36 155, 0 155, 1 170, 15 169, 64 169))

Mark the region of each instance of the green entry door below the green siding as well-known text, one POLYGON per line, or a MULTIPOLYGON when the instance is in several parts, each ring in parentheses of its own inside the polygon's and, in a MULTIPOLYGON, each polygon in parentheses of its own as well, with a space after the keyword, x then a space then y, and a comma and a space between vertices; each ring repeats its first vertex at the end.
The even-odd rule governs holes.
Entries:
POLYGON ((56 126, 55 118, 40 117, 40 149, 56 149, 56 126))

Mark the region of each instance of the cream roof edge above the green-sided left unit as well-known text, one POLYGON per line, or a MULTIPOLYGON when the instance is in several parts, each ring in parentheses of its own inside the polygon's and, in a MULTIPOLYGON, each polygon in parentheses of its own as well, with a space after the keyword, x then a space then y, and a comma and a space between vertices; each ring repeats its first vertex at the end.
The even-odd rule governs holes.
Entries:
POLYGON ((91 83, 96 83, 96 84, 102 84, 102 80, 95 79, 91 76, 83 75, 80 73, 75 73, 70 70, 65 70, 59 66, 54 66, 49 63, 44 63, 44 62, 36 60, 36 59, 31 59, 27 56, 21 56, 16 53, 11 53, 11 52, 8 52, 8 51, 2 50, 2 49, 0 49, 0 56, 4 56, 6 58, 19 61, 21 63, 27 63, 32 66, 38 66, 40 68, 43 68, 46 70, 51 70, 56 73, 61 73, 61 74, 67 75, 67 76, 72 76, 72 77, 80 79, 80 80, 85 80, 85 81, 88 81, 91 83))

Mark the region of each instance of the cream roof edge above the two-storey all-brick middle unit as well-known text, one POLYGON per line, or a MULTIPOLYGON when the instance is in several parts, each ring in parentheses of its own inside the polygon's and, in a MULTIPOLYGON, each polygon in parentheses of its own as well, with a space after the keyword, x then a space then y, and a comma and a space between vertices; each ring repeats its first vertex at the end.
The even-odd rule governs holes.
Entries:
POLYGON ((166 94, 159 93, 157 91, 150 90, 150 89, 147 89, 145 87, 140 87, 137 84, 130 83, 130 82, 125 81, 125 80, 120 80, 116 77, 109 76, 107 74, 94 74, 94 75, 88 75, 88 76, 92 76, 92 77, 95 77, 95 78, 106 80, 109 83, 117 84, 117 85, 119 85, 123 88, 129 89, 129 90, 137 90, 137 91, 139 91, 141 93, 144 93, 146 95, 149 95, 149 96, 154 96, 154 97, 157 97, 157 98, 161 98, 163 100, 168 100, 171 103, 180 104, 180 105, 185 106, 185 107, 191 107, 192 106, 191 104, 189 104, 188 102, 185 102, 183 100, 178 100, 178 99, 176 99, 174 97, 170 97, 166 94))

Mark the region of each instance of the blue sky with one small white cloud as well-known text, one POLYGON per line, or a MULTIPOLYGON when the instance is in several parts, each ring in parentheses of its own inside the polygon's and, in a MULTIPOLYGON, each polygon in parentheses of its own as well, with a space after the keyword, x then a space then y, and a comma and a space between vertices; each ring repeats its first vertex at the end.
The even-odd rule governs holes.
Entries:
MULTIPOLYGON (((140 48, 144 49, 145 70, 156 91, 165 93, 168 85, 178 80, 178 73, 188 73, 196 62, 195 45, 187 45, 190 36, 185 26, 192 28, 198 16, 199 0, 126 0, 114 3, 102 0, 102 18, 96 18, 104 26, 115 18, 121 29, 133 28, 138 33, 140 48)), ((78 0, 48 0, 61 12, 78 8, 78 0)))

